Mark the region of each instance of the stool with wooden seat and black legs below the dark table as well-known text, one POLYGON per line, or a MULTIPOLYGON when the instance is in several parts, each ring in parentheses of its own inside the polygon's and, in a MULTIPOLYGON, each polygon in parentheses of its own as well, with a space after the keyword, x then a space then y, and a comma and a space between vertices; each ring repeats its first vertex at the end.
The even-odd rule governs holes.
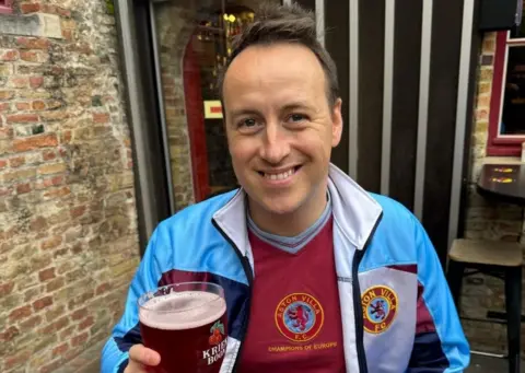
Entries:
POLYGON ((455 240, 448 253, 446 275, 458 312, 464 277, 482 272, 504 280, 510 373, 520 373, 522 249, 518 243, 455 240), (475 271, 466 272, 466 269, 475 271))

